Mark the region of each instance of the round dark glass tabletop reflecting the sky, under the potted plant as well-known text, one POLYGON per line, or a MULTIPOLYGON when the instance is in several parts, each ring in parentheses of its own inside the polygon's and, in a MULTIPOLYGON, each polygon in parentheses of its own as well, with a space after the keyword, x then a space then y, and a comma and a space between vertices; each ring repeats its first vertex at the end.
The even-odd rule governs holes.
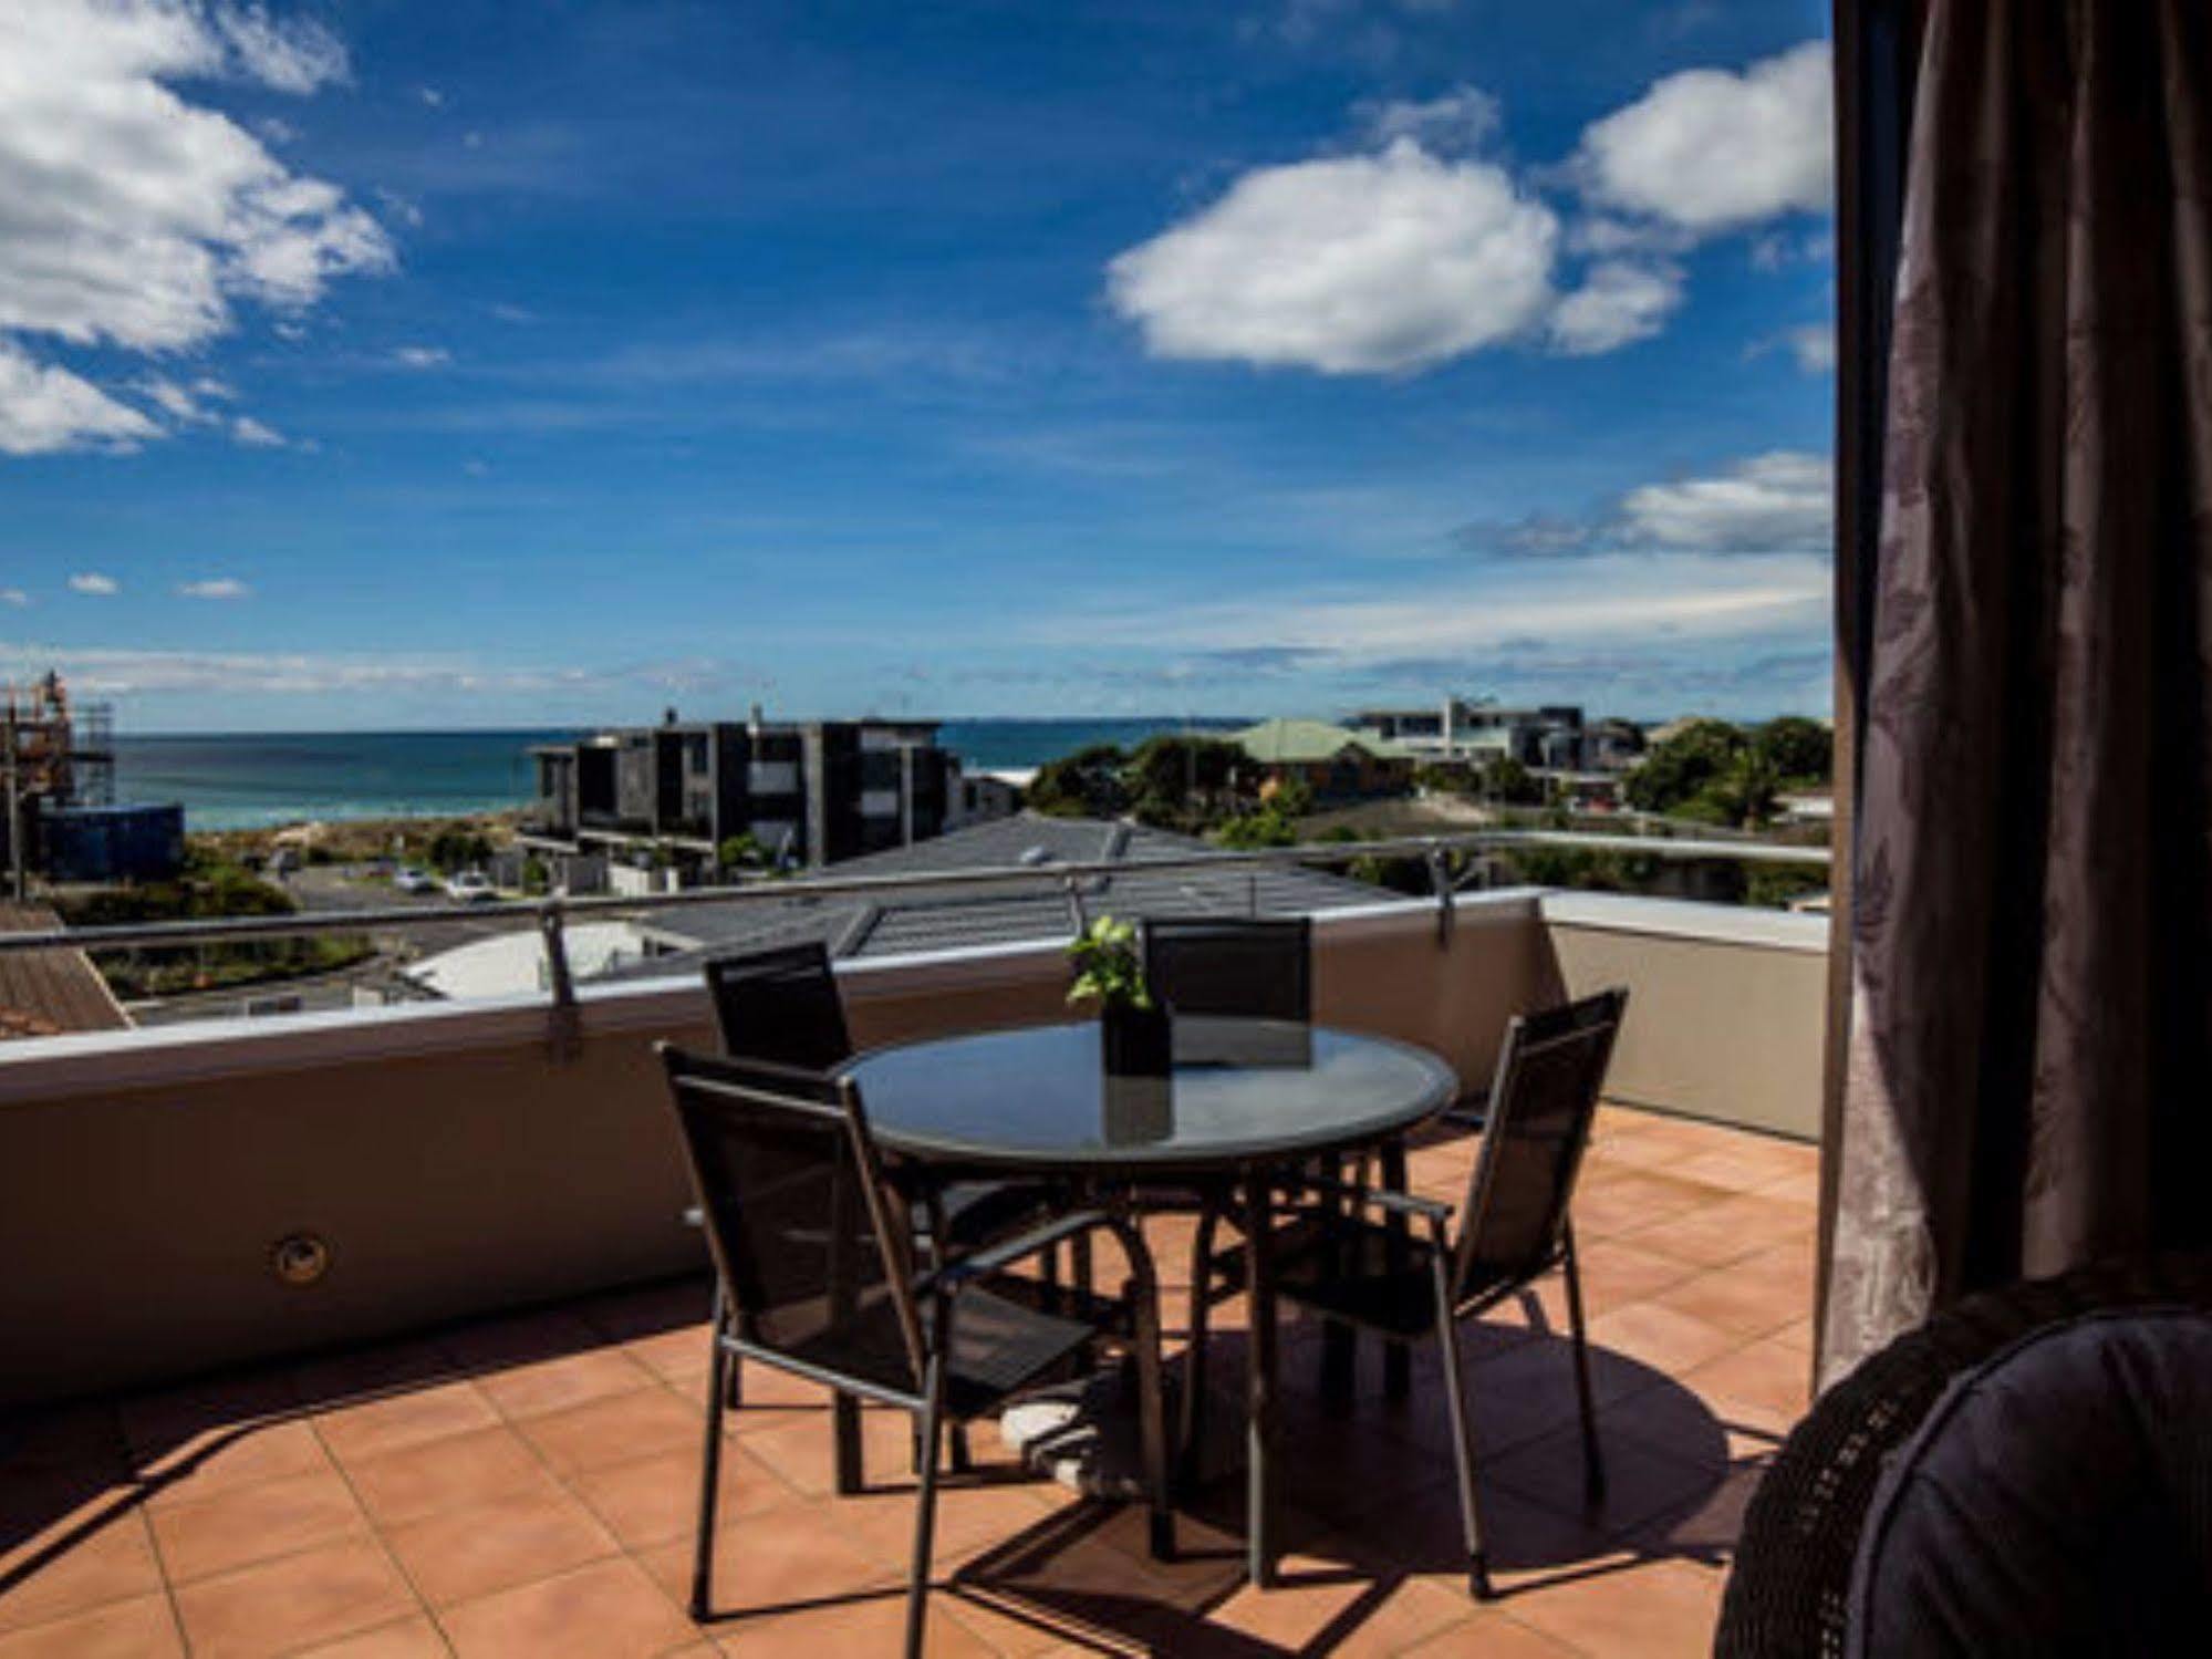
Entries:
POLYGON ((1436 1055, 1274 1020, 1175 1022, 1170 1077, 1108 1077, 1095 1022, 878 1048, 854 1062, 876 1139, 922 1157, 1206 1166, 1356 1146, 1458 1095, 1436 1055))

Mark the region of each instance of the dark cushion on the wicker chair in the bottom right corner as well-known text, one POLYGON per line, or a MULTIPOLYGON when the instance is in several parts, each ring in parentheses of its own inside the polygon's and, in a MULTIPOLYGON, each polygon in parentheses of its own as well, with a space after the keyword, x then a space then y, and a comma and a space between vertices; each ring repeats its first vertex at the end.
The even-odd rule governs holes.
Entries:
POLYGON ((2088 1314, 1953 1380, 1867 1509, 1849 1652, 2212 1652, 2212 1316, 2088 1314))

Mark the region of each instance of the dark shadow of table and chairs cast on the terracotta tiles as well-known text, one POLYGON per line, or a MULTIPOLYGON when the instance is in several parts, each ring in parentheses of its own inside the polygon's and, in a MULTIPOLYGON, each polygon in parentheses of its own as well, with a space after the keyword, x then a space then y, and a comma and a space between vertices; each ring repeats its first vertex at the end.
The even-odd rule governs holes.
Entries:
MULTIPOLYGON (((1374 1345, 1363 1345, 1371 1349, 1374 1345)), ((1500 1604, 1659 1559, 1719 1566, 1774 1436, 1717 1418, 1663 1371, 1593 1349, 1599 1440, 1608 1464, 1606 1506, 1582 1493, 1573 1374, 1564 1336, 1522 1336, 1489 1360, 1513 1358, 1511 1378, 1469 1367, 1469 1411, 1484 1433, 1484 1383, 1528 1383, 1546 1371, 1557 1409, 1491 1411, 1491 1444, 1478 1453, 1484 1544, 1500 1604), (1736 1451, 1732 1451, 1732 1438, 1736 1451)), ((1467 1546, 1442 1383, 1416 1369, 1409 1396, 1385 1398, 1380 1365, 1358 1371, 1352 1398, 1318 1380, 1318 1343, 1290 1340, 1283 1354, 1276 1438, 1276 1535, 1283 1590, 1340 1590, 1294 1644, 1214 1621, 1245 1586, 1245 1480, 1217 1469, 1177 1493, 1175 1562, 1146 1557, 1137 1506, 1071 1504, 1018 1537, 973 1557, 947 1590, 1060 1641, 1104 1652, 1325 1655, 1347 1644, 1411 1579, 1438 1579, 1467 1595, 1467 1546), (1294 1380, 1305 1365, 1310 1385, 1294 1380), (1387 1526, 1380 1522, 1387 1517, 1387 1526)), ((1214 1376, 1243 1374, 1243 1336, 1214 1336, 1214 1376)), ((1495 1405, 1495 1402, 1489 1402, 1495 1405)), ((1241 1402, 1221 1394, 1214 1425, 1241 1429, 1241 1402)))

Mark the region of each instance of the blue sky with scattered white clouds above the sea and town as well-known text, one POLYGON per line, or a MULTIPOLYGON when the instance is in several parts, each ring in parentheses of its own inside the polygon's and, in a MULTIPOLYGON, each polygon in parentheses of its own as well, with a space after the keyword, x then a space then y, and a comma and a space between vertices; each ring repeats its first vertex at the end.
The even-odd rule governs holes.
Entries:
POLYGON ((1825 11, 20 0, 0 670, 1823 712, 1825 11))

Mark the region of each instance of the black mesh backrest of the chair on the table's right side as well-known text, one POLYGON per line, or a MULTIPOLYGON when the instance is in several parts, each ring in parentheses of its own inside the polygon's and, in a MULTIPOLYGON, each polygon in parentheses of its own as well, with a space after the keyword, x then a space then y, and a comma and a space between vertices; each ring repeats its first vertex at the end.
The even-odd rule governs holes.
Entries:
POLYGON ((1542 1272, 1557 1254, 1626 1006, 1628 991, 1599 991, 1506 1026, 1467 1188, 1460 1292, 1542 1272))

